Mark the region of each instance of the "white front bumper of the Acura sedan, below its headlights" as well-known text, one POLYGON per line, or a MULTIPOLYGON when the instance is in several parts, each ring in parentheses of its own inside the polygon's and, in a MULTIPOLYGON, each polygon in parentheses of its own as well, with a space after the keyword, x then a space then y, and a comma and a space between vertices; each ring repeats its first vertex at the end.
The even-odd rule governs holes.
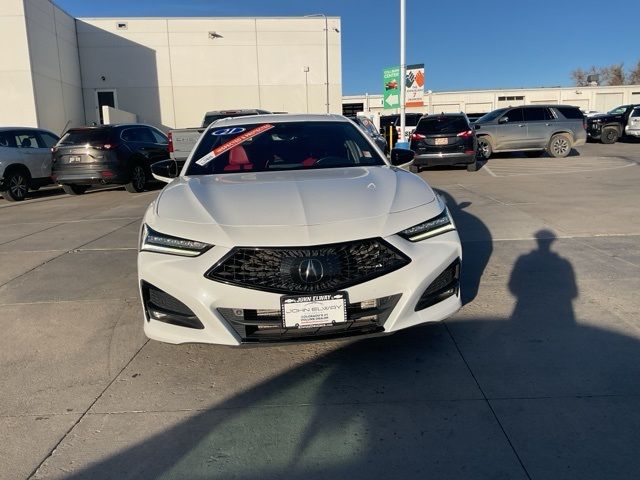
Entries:
MULTIPOLYGON (((434 297, 435 300, 431 302, 425 303, 423 296, 429 287, 438 283, 436 280, 442 278, 441 274, 461 258, 462 251, 457 232, 448 232, 416 243, 406 241, 397 235, 385 240, 409 256, 411 262, 399 270, 343 289, 348 294, 352 308, 374 299, 382 302, 380 306, 384 311, 379 317, 379 323, 363 329, 359 328, 362 324, 358 324, 357 329, 351 330, 335 328, 331 331, 331 327, 323 327, 328 330, 312 332, 305 329, 305 332, 289 332, 282 335, 282 340, 316 340, 353 334, 391 333, 414 325, 442 320, 460 308, 460 291, 457 284, 453 293, 434 297), (421 297, 423 301, 418 306, 421 297), (416 311, 416 307, 421 309, 416 311)), ((149 338, 167 343, 240 345, 254 342, 255 337, 243 338, 243 331, 233 323, 234 315, 239 317, 242 311, 277 312, 280 310, 281 295, 205 278, 205 272, 229 251, 229 248, 216 246, 195 258, 152 252, 139 253, 138 277, 143 303, 147 305, 145 302, 148 300, 143 286, 153 285, 181 302, 196 317, 198 323, 195 325, 199 324, 196 328, 189 328, 159 321, 151 318, 148 309, 145 308, 144 331, 149 338)), ((273 336, 267 337, 267 341, 277 340, 273 336)))

